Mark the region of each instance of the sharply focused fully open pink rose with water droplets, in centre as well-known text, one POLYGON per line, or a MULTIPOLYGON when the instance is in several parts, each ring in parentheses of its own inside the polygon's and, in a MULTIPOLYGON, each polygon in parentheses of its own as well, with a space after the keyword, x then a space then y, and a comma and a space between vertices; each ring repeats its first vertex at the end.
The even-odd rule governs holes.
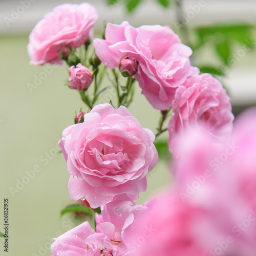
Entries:
POLYGON ((115 110, 99 104, 62 135, 59 145, 71 175, 72 200, 84 197, 97 208, 115 195, 129 194, 135 200, 145 191, 145 175, 158 161, 155 135, 124 106, 115 110))

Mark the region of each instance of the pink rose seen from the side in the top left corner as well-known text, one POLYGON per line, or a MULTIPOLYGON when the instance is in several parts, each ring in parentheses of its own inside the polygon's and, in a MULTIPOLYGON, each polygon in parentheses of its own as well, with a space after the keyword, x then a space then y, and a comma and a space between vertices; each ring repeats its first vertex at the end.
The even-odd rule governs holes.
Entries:
POLYGON ((94 6, 63 4, 55 7, 37 23, 29 36, 28 53, 32 65, 61 63, 59 51, 68 55, 67 47, 76 49, 93 35, 98 19, 94 6))

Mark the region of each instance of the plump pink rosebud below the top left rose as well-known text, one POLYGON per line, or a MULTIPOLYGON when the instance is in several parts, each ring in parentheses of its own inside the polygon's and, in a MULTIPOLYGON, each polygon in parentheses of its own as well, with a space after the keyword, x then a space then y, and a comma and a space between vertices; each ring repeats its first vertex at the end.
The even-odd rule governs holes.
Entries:
POLYGON ((69 68, 70 76, 69 83, 72 89, 82 91, 87 89, 93 81, 93 73, 87 68, 78 63, 69 68))

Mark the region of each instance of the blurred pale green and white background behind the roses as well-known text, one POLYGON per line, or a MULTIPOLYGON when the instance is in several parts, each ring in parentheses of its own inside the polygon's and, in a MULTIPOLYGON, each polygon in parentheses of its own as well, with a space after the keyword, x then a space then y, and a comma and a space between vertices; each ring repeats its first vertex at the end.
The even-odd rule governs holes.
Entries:
MULTIPOLYGON (((101 35, 103 20, 114 20, 118 24, 128 20, 136 27, 170 25, 194 49, 191 58, 194 65, 214 73, 224 83, 235 114, 255 104, 254 1, 204 1, 198 13, 194 11, 194 17, 191 10, 196 10, 195 6, 202 1, 183 2, 183 14, 174 2, 164 8, 168 1, 137 1, 138 6, 134 4, 132 13, 126 10, 126 5, 131 6, 132 1, 114 2, 117 3, 109 6, 103 0, 89 1, 98 8, 100 15, 95 37, 101 35), (250 49, 243 50, 245 45, 250 49)), ((75 111, 83 107, 86 112, 87 108, 75 90, 63 86, 68 79, 65 65, 57 68, 30 66, 27 54, 31 29, 47 11, 61 3, 65 2, 31 1, 8 27, 5 17, 11 17, 12 10, 17 10, 21 3, 0 2, 0 232, 4 231, 4 198, 8 198, 8 255, 12 256, 51 255, 51 239, 83 220, 74 215, 60 218, 60 210, 71 200, 67 165, 63 156, 57 154, 56 143, 63 129, 73 123, 75 111), (41 79, 31 89, 30 84, 35 84, 36 77, 41 79), (33 168, 37 172, 30 172, 33 168), (29 175, 30 178, 26 178, 29 175)), ((130 112, 142 126, 156 132, 159 111, 154 110, 140 92, 137 86, 130 112)), ((102 97, 109 99, 108 94, 102 97)), ((148 189, 141 193, 138 203, 144 203, 152 193, 169 184, 169 161, 160 160, 147 177, 148 189)), ((0 251, 4 255, 3 246, 0 251)))

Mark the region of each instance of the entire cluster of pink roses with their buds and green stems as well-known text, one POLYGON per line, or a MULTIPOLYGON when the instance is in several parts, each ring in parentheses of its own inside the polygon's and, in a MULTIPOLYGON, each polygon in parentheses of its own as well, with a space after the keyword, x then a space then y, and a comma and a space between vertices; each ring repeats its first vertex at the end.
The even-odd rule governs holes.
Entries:
POLYGON ((171 28, 108 24, 103 39, 91 44, 97 18, 90 4, 63 4, 46 14, 29 38, 31 63, 66 61, 69 87, 89 106, 63 131, 59 145, 71 199, 101 209, 96 230, 82 223, 54 239, 52 254, 254 256, 256 110, 242 116, 232 132, 225 89, 191 66, 191 49, 171 28), (84 56, 76 52, 80 46, 84 56), (89 47, 94 49, 88 57, 89 47), (108 69, 118 108, 112 100, 96 104, 109 89, 99 90, 108 69), (120 74, 126 86, 119 83, 120 74), (126 108, 135 81, 161 111, 156 135, 126 108), (134 200, 147 188, 146 174, 158 161, 154 140, 165 130, 175 158, 175 188, 137 205, 134 200))

